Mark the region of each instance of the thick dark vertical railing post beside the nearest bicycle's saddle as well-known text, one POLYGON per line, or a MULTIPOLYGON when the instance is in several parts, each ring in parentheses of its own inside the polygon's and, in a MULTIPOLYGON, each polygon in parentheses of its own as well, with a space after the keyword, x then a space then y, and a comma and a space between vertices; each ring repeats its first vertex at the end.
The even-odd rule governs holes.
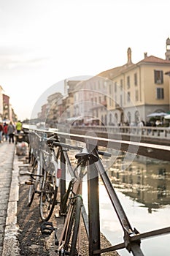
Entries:
MULTIPOLYGON (((98 195, 98 171, 93 160, 88 160, 88 220, 89 220, 89 255, 100 249, 100 217, 98 195)), ((97 256, 101 255, 100 253, 97 256)))

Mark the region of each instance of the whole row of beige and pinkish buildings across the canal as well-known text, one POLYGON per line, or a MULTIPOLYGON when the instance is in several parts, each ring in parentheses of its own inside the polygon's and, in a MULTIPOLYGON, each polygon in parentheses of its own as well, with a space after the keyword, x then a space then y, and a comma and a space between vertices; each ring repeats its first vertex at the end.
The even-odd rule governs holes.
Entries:
POLYGON ((166 59, 147 56, 134 64, 131 48, 127 62, 87 80, 65 80, 65 95, 48 97, 48 119, 72 121, 89 118, 96 124, 137 124, 148 121, 152 112, 169 111, 170 39, 166 40, 166 59), (58 116, 58 117, 57 117, 58 116), (57 117, 57 118, 56 118, 57 117))

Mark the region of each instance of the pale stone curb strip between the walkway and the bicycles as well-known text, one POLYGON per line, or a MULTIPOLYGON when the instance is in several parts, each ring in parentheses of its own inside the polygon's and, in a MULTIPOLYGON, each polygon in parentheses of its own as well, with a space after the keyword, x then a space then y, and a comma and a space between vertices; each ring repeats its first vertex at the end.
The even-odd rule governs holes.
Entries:
POLYGON ((4 230, 4 244, 2 256, 18 256, 20 248, 18 242, 18 200, 19 200, 19 168, 18 156, 14 151, 12 181, 9 192, 9 201, 7 208, 7 219, 4 230))

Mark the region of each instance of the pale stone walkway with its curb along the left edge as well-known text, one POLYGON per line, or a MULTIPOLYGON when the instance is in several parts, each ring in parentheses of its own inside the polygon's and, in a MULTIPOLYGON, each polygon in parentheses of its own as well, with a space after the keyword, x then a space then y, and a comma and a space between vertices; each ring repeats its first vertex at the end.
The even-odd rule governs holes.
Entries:
POLYGON ((19 255, 17 204, 19 196, 18 157, 15 144, 0 143, 0 255, 19 255))

